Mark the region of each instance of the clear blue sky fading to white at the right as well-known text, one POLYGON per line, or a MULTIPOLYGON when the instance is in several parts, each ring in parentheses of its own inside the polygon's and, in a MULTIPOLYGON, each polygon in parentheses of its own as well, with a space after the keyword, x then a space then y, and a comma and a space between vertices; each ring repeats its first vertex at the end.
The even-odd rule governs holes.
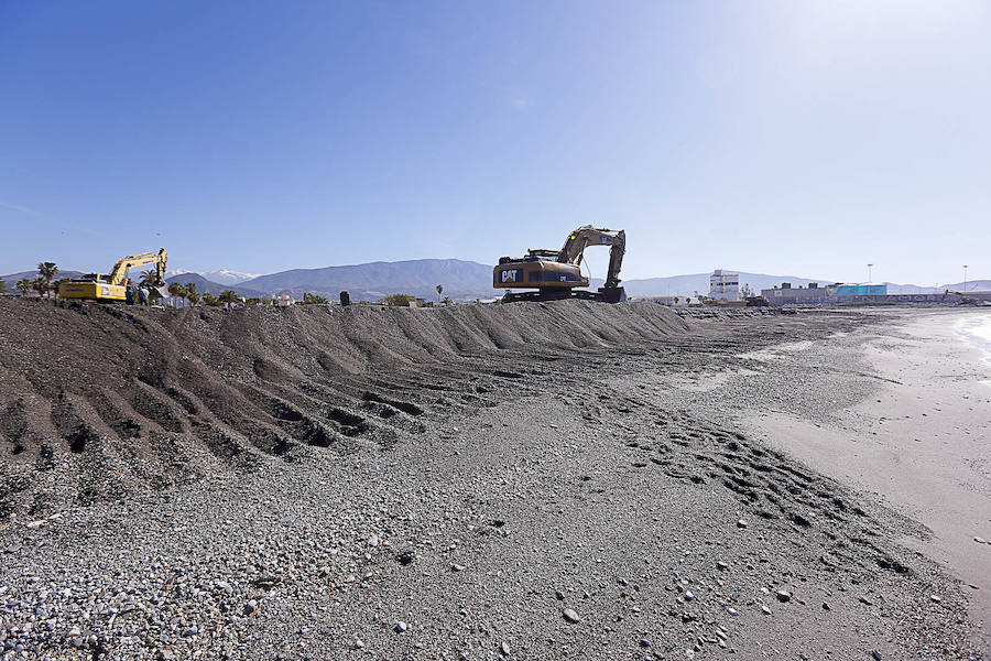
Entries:
POLYGON ((627 279, 991 278, 991 2, 0 0, 0 273, 587 223, 627 279))

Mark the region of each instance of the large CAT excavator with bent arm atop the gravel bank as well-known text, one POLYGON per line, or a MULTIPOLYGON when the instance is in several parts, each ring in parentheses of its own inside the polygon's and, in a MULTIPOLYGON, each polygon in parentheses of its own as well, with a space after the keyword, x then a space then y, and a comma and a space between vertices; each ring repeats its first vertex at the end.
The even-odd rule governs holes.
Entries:
POLYGON ((496 289, 535 289, 529 292, 507 292, 503 303, 516 301, 554 301, 557 299, 586 299, 605 303, 627 300, 627 291, 619 285, 619 272, 627 251, 627 232, 582 225, 568 235, 560 250, 533 249, 525 257, 502 257, 492 271, 496 289), (609 270, 606 284, 590 292, 576 288, 588 286, 581 274, 585 249, 590 246, 609 246, 609 270))

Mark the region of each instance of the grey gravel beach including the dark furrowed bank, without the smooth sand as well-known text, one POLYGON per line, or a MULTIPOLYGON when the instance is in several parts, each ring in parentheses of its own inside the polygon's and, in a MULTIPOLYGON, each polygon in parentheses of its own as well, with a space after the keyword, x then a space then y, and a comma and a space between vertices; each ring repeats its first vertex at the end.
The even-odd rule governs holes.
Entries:
POLYGON ((893 315, 0 299, 2 658, 983 658, 933 525, 755 422, 871 414, 893 315))

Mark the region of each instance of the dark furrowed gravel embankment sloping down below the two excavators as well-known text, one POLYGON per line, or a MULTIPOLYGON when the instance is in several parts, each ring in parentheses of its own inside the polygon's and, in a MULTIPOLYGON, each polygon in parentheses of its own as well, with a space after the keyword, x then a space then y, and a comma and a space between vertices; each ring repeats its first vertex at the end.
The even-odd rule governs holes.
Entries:
POLYGON ((0 518, 162 489, 311 447, 389 447, 423 413, 525 391, 513 356, 642 344, 654 304, 248 307, 0 300, 0 518))

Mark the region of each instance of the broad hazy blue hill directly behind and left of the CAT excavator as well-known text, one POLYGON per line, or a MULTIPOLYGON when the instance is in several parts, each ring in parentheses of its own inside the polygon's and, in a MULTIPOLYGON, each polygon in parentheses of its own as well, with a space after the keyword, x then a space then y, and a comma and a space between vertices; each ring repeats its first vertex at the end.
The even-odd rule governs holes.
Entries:
POLYGON ((492 266, 459 259, 417 259, 371 262, 323 269, 294 269, 262 275, 241 286, 270 294, 288 293, 302 299, 305 292, 337 299, 347 291, 356 301, 374 301, 389 294, 437 297, 437 285, 455 301, 497 295, 492 289, 492 266))

